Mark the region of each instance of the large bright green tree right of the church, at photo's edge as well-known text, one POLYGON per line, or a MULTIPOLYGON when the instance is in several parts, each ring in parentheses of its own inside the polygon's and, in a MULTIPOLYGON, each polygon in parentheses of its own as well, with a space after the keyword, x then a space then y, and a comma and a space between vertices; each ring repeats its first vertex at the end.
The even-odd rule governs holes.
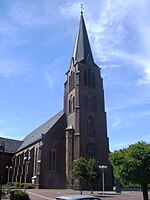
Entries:
POLYGON ((110 153, 110 163, 116 179, 124 184, 140 184, 143 199, 148 200, 150 183, 150 144, 137 142, 128 148, 110 153))

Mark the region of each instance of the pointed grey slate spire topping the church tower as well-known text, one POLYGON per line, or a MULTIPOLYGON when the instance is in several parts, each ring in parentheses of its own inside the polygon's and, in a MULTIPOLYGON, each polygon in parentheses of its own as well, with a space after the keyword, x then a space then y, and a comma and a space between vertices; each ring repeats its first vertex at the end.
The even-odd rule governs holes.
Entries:
POLYGON ((91 58, 91 61, 94 62, 89 39, 88 39, 88 34, 87 34, 87 30, 86 30, 86 26, 85 26, 85 22, 83 18, 83 12, 81 12, 80 24, 79 24, 77 37, 76 37, 73 58, 74 58, 75 63, 77 63, 77 62, 86 60, 88 56, 91 58))

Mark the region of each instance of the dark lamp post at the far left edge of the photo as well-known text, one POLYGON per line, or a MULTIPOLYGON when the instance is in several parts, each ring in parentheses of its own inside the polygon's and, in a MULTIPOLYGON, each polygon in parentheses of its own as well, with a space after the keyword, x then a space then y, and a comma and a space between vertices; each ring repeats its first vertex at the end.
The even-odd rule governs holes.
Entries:
POLYGON ((3 184, 3 156, 5 151, 5 143, 4 141, 0 144, 0 153, 1 153, 1 166, 0 166, 0 200, 2 197, 2 184, 3 184))

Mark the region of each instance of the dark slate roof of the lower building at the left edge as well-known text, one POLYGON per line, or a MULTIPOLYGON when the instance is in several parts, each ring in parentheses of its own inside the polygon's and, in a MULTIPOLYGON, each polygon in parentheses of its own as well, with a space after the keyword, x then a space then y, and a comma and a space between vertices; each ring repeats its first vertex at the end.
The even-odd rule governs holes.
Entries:
POLYGON ((3 138, 3 137, 0 137, 0 145, 1 142, 4 142, 5 144, 5 153, 12 153, 12 154, 14 154, 18 149, 18 147, 22 144, 22 141, 3 138))

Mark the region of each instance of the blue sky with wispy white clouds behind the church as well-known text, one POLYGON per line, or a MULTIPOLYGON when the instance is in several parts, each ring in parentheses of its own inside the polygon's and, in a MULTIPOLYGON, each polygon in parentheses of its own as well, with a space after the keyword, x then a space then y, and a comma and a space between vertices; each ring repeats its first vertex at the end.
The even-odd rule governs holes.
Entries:
POLYGON ((1 1, 1 137, 22 140, 63 108, 81 3, 104 79, 110 149, 150 142, 149 0, 1 1))

